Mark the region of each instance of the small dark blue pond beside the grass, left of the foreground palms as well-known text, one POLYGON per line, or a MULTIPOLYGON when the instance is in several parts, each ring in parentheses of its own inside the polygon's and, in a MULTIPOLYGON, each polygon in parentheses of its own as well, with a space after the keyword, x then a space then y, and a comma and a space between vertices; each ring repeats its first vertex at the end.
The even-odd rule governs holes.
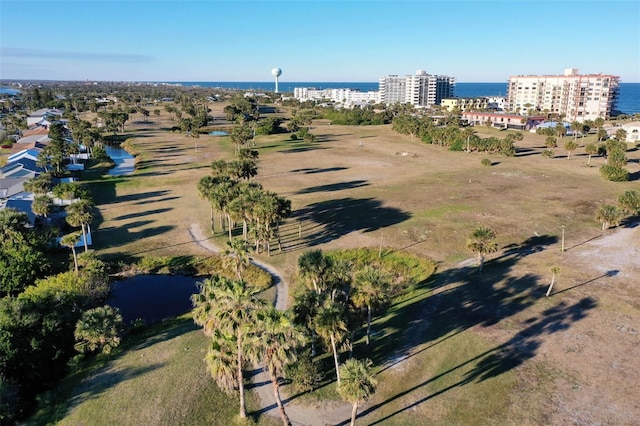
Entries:
POLYGON ((202 280, 184 275, 136 275, 114 283, 106 304, 120 309, 125 324, 137 318, 150 324, 189 312, 191 295, 198 293, 197 282, 202 280))

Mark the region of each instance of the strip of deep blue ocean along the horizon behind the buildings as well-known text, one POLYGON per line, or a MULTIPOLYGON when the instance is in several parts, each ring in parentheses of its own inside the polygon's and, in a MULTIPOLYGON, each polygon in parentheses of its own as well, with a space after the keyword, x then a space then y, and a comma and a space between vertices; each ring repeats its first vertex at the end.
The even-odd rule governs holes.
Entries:
MULTIPOLYGON (((273 81, 173 81, 169 84, 183 86, 220 87, 223 89, 272 91, 275 89, 273 81)), ((315 87, 316 89, 358 89, 361 92, 378 90, 378 82, 278 82, 281 93, 293 93, 296 87, 315 87)), ((475 96, 507 96, 507 83, 456 83, 455 96, 466 98, 475 96)), ((625 114, 640 113, 640 83, 620 83, 620 95, 616 108, 625 114)))

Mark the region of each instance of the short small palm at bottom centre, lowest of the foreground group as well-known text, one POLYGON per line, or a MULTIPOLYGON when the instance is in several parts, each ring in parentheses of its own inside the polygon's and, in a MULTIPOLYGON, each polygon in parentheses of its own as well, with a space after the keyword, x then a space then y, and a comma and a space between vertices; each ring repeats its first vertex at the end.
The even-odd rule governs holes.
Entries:
POLYGON ((351 426, 356 424, 358 404, 369 399, 376 391, 378 381, 371 372, 372 364, 369 359, 360 361, 351 358, 342 365, 342 383, 338 386, 338 393, 353 404, 351 426))

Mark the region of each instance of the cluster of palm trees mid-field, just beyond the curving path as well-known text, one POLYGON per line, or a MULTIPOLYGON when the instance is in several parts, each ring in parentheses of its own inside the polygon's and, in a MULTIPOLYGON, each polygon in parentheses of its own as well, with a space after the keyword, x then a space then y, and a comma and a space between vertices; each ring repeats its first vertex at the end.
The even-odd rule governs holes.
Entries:
POLYGON ((214 161, 211 174, 197 184, 198 194, 211 205, 211 228, 215 233, 214 211, 220 213, 220 227, 225 222, 229 241, 233 239, 236 223, 242 223, 242 236, 255 237, 255 250, 271 254, 271 240, 275 238, 282 251, 279 224, 291 215, 291 201, 280 197, 251 180, 257 174, 258 153, 243 149, 238 160, 214 161))

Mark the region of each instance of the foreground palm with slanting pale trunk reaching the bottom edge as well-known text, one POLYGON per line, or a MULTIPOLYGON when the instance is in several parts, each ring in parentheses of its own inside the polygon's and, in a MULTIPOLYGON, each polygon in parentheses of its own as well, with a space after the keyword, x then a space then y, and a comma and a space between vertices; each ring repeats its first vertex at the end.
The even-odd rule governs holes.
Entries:
POLYGON ((273 394, 280 410, 282 422, 285 426, 291 426, 291 421, 280 398, 278 379, 284 374, 284 366, 297 359, 296 350, 304 345, 306 339, 294 327, 289 315, 274 307, 269 307, 258 313, 257 328, 260 330, 262 360, 271 377, 273 394))

